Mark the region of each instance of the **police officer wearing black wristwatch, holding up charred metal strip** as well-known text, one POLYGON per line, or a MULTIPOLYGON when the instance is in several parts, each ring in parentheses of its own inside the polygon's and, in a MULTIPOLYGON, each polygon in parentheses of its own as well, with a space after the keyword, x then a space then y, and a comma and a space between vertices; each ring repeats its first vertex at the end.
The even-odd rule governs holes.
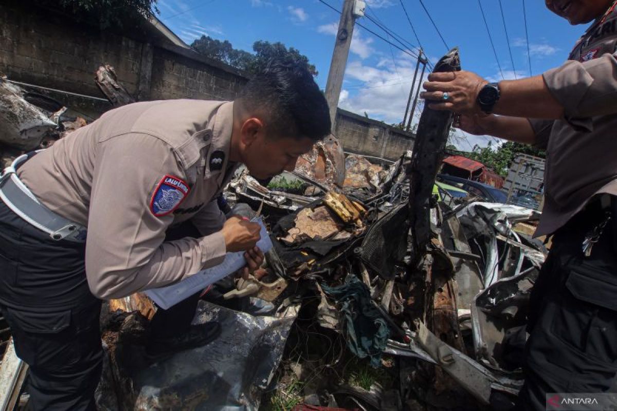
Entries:
POLYGON ((531 296, 524 410, 545 410, 547 393, 607 391, 617 373, 616 4, 546 6, 573 25, 592 22, 561 67, 499 84, 434 73, 423 92, 464 131, 547 149, 536 236, 554 237, 531 296))

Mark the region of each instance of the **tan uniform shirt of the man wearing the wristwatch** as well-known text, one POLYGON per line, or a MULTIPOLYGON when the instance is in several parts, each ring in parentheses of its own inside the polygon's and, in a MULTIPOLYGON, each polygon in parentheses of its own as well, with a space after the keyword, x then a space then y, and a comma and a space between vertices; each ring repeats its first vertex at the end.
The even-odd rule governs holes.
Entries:
POLYGON ((529 120, 547 149, 537 235, 551 234, 597 193, 617 195, 617 12, 590 26, 564 65, 544 73, 563 120, 529 120))

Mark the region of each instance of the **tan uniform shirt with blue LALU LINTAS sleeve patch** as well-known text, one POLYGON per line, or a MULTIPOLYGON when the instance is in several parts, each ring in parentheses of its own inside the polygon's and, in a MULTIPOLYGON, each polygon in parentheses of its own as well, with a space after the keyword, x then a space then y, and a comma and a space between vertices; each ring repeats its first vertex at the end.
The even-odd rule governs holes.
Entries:
POLYGON ((119 298, 223 261, 215 199, 236 168, 232 128, 233 102, 130 104, 38 153, 19 177, 52 211, 88 227, 89 288, 119 298), (164 242, 188 219, 205 237, 164 242))

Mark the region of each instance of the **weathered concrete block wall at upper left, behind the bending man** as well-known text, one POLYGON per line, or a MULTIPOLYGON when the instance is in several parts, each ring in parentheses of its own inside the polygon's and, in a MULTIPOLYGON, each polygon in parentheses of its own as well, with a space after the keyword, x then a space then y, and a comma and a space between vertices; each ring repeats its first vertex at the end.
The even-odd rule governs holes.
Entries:
POLYGON ((31 4, 0 2, 0 73, 9 79, 104 97, 94 83, 102 64, 115 68, 132 96, 148 99, 229 100, 247 81, 233 67, 190 49, 160 41, 152 46, 31 4))

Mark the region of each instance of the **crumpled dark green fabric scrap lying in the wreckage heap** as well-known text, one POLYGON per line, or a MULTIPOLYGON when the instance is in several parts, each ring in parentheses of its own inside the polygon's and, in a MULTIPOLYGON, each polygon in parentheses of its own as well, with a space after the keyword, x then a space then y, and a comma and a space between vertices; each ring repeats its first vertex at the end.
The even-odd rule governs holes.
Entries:
POLYGON ((341 307, 341 328, 346 336, 347 347, 360 358, 370 357, 371 365, 379 367, 390 328, 381 312, 371 303, 368 287, 350 275, 338 287, 322 284, 321 288, 341 307))

